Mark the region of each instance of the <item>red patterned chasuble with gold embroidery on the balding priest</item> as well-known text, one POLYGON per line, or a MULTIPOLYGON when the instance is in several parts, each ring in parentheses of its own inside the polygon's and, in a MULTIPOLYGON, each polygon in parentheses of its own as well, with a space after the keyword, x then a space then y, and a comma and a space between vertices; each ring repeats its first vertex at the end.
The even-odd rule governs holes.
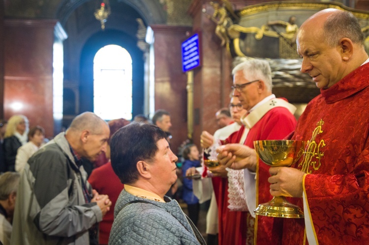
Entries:
MULTIPOLYGON (((292 139, 308 140, 295 168, 308 173, 305 216, 319 244, 369 244, 369 64, 321 90, 292 139)), ((302 198, 289 198, 303 205, 302 198)), ((304 244, 303 219, 286 218, 283 244, 304 244)))

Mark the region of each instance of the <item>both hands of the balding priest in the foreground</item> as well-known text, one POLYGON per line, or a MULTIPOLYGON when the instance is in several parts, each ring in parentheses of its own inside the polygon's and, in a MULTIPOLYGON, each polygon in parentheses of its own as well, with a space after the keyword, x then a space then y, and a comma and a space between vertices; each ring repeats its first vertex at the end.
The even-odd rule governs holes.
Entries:
MULTIPOLYGON (((217 148, 218 161, 232 169, 247 168, 256 172, 257 156, 254 149, 241 144, 226 144, 217 148)), ((265 163, 260 163, 265 164, 265 163)), ((268 178, 270 193, 273 196, 303 196, 304 172, 292 167, 271 167, 268 178)))

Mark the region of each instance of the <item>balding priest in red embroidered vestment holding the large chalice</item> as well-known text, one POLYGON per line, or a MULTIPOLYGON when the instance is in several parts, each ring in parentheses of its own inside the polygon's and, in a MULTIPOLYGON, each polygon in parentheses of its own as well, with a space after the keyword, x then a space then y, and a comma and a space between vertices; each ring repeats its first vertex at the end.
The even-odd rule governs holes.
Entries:
MULTIPOLYGON (((270 168, 272 195, 290 196, 305 219, 284 218, 271 231, 282 244, 368 244, 369 241, 369 58, 358 20, 325 9, 300 27, 301 71, 321 94, 299 119, 290 138, 306 140, 293 167, 270 168)), ((228 145, 221 163, 251 167, 254 153, 228 145), (228 153, 227 157, 224 157, 228 153), (244 159, 235 163, 235 158, 244 159)), ((259 235, 259 234, 258 234, 259 235)), ((261 235, 261 234, 260 234, 261 235)))

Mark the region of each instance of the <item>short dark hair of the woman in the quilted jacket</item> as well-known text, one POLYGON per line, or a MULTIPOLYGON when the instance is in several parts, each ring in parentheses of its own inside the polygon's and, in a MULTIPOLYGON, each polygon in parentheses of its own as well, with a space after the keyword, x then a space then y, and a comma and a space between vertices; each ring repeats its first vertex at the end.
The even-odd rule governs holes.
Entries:
POLYGON ((138 179, 137 162, 154 160, 158 150, 156 142, 166 138, 159 127, 132 122, 119 129, 110 139, 110 160, 114 172, 123 184, 138 179))

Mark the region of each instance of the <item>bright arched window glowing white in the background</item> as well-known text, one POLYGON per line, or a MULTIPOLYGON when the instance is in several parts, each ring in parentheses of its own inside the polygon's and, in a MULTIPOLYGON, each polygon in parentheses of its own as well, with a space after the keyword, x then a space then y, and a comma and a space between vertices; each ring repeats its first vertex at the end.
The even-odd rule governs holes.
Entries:
POLYGON ((104 120, 132 119, 132 58, 107 45, 93 58, 93 112, 104 120))

